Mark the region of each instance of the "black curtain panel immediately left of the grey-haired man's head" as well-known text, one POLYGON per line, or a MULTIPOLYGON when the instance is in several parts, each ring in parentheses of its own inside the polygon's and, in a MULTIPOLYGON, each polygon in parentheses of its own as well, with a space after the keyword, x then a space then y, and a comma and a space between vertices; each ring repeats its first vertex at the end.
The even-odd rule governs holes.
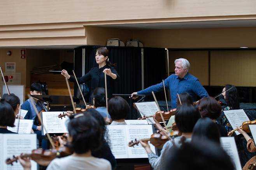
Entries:
MULTIPOLYGON (((161 83, 167 78, 166 50, 161 48, 144 48, 144 88, 161 83)), ((167 93, 167 88, 165 89, 167 93)), ((165 100, 163 92, 155 93, 158 101, 165 100)), ((168 94, 166 94, 168 95, 168 94)), ((147 101, 154 101, 153 95, 146 97, 147 101)))

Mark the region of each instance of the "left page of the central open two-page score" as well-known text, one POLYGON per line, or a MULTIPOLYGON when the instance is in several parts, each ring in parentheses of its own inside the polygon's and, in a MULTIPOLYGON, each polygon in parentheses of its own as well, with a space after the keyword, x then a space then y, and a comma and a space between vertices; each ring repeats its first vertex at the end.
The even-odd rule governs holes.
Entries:
POLYGON ((110 148, 116 159, 128 158, 128 142, 126 139, 126 125, 107 125, 110 148))

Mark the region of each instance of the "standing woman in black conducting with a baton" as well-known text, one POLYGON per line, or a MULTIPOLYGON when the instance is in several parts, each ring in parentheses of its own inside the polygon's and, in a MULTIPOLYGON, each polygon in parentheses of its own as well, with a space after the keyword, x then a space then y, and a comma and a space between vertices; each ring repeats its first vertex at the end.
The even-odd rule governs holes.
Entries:
MULTIPOLYGON (((96 63, 98 64, 98 67, 91 68, 91 70, 84 76, 77 78, 77 81, 79 84, 86 83, 89 80, 91 80, 91 92, 96 87, 103 87, 105 88, 105 77, 104 73, 107 75, 107 93, 108 97, 112 97, 112 87, 115 80, 119 78, 119 75, 114 68, 116 64, 112 64, 109 61, 109 50, 107 50, 104 47, 100 47, 96 50, 95 55, 96 63)), ((63 75, 65 78, 67 78, 71 82, 75 82, 75 78, 73 76, 68 75, 68 72, 63 69, 61 71, 61 75, 63 75)), ((89 101, 92 101, 92 98, 90 97, 89 101)))

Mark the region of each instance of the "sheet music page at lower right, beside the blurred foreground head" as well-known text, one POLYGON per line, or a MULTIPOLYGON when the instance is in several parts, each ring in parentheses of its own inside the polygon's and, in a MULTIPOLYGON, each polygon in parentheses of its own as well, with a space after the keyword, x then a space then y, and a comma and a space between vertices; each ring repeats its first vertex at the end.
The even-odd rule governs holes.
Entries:
POLYGON ((230 156, 236 170, 242 170, 234 137, 221 137, 221 147, 230 156))

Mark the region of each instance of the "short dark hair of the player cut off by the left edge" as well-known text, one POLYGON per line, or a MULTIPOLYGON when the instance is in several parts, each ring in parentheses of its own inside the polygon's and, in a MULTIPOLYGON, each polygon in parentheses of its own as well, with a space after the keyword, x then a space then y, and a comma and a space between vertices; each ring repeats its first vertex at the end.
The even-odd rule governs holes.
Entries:
POLYGON ((14 114, 14 110, 12 109, 12 106, 5 101, 1 101, 0 102, 0 126, 15 127, 14 121, 15 121, 15 114, 14 114))

